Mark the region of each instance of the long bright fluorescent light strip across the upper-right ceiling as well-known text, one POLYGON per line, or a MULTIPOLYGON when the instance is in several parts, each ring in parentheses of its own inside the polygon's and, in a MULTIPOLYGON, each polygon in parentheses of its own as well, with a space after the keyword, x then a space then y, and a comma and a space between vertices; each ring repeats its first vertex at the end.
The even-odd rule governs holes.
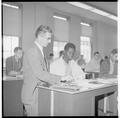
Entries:
POLYGON ((107 12, 105 12, 103 10, 96 9, 94 7, 91 7, 91 6, 87 5, 87 4, 84 4, 84 3, 81 3, 81 2, 67 2, 67 3, 69 3, 71 5, 74 5, 76 7, 80 7, 80 8, 89 10, 91 12, 97 13, 99 15, 102 15, 102 16, 105 16, 105 17, 108 17, 108 18, 110 18, 112 20, 116 20, 117 21, 117 16, 114 16, 114 15, 112 15, 110 13, 107 13, 107 12))

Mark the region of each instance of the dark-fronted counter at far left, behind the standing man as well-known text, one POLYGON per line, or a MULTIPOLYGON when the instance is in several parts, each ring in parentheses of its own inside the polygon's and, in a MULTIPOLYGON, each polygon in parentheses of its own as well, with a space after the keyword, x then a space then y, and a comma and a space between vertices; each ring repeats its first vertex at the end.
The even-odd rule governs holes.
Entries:
POLYGON ((3 77, 3 116, 23 116, 21 88, 23 77, 3 77))

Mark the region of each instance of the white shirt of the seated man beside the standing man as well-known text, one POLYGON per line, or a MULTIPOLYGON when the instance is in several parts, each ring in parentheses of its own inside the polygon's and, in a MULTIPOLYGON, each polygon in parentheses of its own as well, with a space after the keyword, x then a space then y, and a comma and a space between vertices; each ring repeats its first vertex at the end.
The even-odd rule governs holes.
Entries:
POLYGON ((56 59, 50 64, 50 73, 59 76, 72 76, 74 79, 85 78, 85 73, 74 60, 66 63, 63 57, 56 59))

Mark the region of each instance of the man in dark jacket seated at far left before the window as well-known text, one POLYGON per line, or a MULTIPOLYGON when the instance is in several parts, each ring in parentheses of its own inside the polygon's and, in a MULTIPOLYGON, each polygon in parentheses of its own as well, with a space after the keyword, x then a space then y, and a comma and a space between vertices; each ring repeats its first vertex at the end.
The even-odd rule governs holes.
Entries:
POLYGON ((6 59, 6 75, 16 76, 22 71, 22 48, 16 47, 14 49, 14 56, 6 59))

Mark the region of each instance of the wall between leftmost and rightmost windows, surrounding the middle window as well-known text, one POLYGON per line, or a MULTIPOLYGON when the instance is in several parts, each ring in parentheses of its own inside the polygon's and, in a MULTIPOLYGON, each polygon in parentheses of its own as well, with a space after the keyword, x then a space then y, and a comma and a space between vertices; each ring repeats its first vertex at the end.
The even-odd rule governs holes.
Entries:
MULTIPOLYGON (((33 43, 35 37, 34 33, 36 28, 40 25, 48 25, 54 31, 53 13, 58 12, 63 15, 71 17, 70 22, 70 42, 76 45, 77 52, 79 53, 79 38, 80 38, 80 18, 77 16, 61 12, 59 10, 43 6, 36 3, 23 3, 23 49, 26 51, 33 43)), ((52 41, 53 42, 53 41, 52 41)), ((52 52, 53 43, 50 43, 44 49, 45 55, 48 56, 52 52)))

